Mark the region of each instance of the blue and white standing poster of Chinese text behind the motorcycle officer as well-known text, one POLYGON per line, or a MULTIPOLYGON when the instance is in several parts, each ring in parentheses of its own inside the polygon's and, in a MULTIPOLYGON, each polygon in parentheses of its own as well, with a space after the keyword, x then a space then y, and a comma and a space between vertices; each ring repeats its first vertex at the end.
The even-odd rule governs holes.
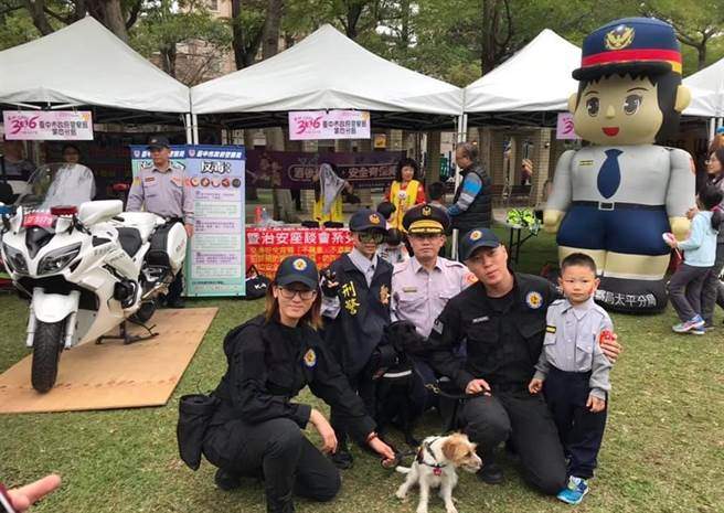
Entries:
MULTIPOLYGON (((194 194, 194 235, 185 261, 187 296, 244 296, 246 285, 244 173, 241 146, 178 146, 173 165, 194 194)), ((146 147, 131 147, 134 175, 152 167, 146 147)))

